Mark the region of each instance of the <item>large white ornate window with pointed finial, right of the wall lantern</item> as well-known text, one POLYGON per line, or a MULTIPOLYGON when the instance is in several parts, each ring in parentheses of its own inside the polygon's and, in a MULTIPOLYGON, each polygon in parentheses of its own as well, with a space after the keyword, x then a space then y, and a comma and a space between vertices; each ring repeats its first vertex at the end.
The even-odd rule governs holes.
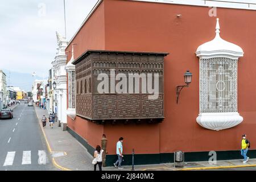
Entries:
POLYGON ((237 61, 243 50, 220 37, 199 46, 200 114, 197 123, 210 130, 224 130, 239 125, 243 118, 237 110, 237 61))

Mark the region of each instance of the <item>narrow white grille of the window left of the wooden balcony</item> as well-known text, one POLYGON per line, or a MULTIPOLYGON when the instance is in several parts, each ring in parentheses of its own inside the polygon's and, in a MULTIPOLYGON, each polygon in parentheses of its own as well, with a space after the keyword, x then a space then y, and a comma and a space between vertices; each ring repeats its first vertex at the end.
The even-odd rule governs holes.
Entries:
POLYGON ((75 108, 75 71, 68 72, 68 107, 75 108))

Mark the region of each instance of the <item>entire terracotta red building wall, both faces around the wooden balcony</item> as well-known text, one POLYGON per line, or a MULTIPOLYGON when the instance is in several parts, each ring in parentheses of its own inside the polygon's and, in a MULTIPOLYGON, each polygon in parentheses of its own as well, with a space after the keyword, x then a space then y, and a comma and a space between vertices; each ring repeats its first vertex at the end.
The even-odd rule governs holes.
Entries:
MULTIPOLYGON (((105 133, 109 139, 109 154, 115 154, 119 137, 125 138, 125 154, 131 154, 132 148, 137 154, 239 150, 243 133, 251 143, 256 143, 256 87, 253 84, 256 75, 251 74, 256 66, 253 50, 256 46, 255 11, 217 8, 221 37, 245 52, 238 61, 238 112, 243 122, 222 131, 204 129, 196 122, 199 58, 195 51, 215 36, 216 17, 210 17, 208 11, 209 7, 200 6, 103 1, 72 41, 78 43, 75 58, 86 49, 170 52, 164 60, 166 118, 163 123, 154 125, 98 126, 77 117, 75 122, 68 119, 68 126, 92 146, 100 143, 101 134, 105 133), (182 17, 177 18, 177 14, 182 17), (187 70, 193 73, 192 84, 181 91, 177 105, 176 86, 184 84, 183 74, 187 70)), ((71 46, 67 50, 71 51, 71 46)))

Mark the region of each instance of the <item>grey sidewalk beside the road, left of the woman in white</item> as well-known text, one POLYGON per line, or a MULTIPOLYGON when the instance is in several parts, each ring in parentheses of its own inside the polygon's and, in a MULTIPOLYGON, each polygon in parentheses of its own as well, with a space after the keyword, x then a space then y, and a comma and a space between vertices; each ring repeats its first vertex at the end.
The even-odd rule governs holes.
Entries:
MULTIPOLYGON (((46 110, 36 107, 38 118, 42 119, 43 115, 48 114, 46 110)), ((92 171, 93 157, 87 152, 75 138, 67 131, 62 131, 57 123, 53 124, 53 129, 47 122, 46 128, 43 129, 47 138, 48 148, 53 156, 53 164, 62 170, 72 171, 92 171)))

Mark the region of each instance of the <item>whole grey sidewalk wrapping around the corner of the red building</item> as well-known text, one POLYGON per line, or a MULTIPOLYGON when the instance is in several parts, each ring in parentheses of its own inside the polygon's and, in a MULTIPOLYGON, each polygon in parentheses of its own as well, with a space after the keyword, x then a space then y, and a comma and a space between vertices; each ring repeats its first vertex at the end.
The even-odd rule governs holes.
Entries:
MULTIPOLYGON (((48 114, 46 110, 35 106, 38 118, 42 119, 43 115, 48 114)), ((86 148, 82 146, 75 138, 67 131, 62 131, 61 127, 54 124, 53 129, 49 127, 47 122, 46 129, 43 129, 47 140, 49 151, 53 156, 53 164, 61 170, 72 171, 92 171, 93 157, 87 152, 86 148)), ((177 164, 179 165, 179 164, 177 164)), ((222 160, 217 161, 216 165, 211 165, 208 162, 191 162, 185 163, 184 167, 174 168, 174 163, 142 165, 135 166, 135 171, 180 171, 180 170, 203 170, 203 169, 218 169, 218 168, 234 168, 234 167, 256 167, 256 159, 249 159, 246 164, 242 163, 242 156, 240 160, 222 160)), ((115 167, 104 167, 104 171, 119 171, 115 167)), ((97 167, 98 170, 98 167, 97 167)), ((123 166, 123 171, 130 171, 131 166, 123 166)))

